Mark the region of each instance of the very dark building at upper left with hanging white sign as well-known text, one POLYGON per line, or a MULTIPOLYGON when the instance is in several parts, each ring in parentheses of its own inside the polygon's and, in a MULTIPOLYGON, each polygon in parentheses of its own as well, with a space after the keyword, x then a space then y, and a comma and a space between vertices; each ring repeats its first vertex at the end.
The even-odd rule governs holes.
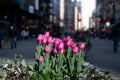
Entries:
POLYGON ((9 25, 21 26, 28 19, 39 19, 38 0, 1 0, 0 22, 9 25))

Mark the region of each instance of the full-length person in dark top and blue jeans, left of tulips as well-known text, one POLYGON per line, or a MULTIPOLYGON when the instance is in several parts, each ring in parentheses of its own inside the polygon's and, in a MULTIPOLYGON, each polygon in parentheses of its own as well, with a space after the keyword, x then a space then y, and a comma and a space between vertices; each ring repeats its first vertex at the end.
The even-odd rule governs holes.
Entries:
POLYGON ((10 38, 10 45, 11 49, 14 49, 17 47, 17 31, 11 26, 11 29, 8 32, 9 38, 10 38))

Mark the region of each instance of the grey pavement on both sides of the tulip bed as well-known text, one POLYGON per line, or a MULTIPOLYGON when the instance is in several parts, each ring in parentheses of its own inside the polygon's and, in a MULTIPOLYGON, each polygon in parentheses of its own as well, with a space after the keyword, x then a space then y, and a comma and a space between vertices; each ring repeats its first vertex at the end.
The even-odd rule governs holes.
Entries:
MULTIPOLYGON (((87 54, 86 61, 101 69, 109 70, 115 76, 120 77, 120 47, 118 53, 113 53, 112 41, 92 39, 91 43, 92 49, 87 54)), ((10 49, 9 45, 5 45, 0 50, 0 64, 3 58, 13 60, 14 54, 22 54, 28 64, 33 64, 35 48, 35 39, 18 41, 16 49, 10 49)))

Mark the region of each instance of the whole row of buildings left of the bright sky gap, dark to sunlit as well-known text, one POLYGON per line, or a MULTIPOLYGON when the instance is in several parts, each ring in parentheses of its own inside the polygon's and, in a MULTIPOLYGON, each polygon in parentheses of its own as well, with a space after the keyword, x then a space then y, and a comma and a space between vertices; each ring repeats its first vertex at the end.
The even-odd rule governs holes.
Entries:
POLYGON ((66 30, 79 30, 81 26, 81 3, 76 0, 1 0, 0 24, 16 26, 59 23, 66 30), (62 25, 61 25, 62 23, 62 25))

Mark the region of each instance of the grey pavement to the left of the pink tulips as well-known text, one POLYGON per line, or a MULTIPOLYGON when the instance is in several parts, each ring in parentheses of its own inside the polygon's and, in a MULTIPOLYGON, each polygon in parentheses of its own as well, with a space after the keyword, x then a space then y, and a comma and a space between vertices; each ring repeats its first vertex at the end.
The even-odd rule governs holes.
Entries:
POLYGON ((36 50, 35 39, 18 41, 16 49, 10 49, 10 45, 5 45, 3 49, 0 50, 0 64, 2 63, 3 58, 13 60, 15 54, 21 54, 29 64, 33 64, 34 62, 33 56, 35 50, 36 50))

